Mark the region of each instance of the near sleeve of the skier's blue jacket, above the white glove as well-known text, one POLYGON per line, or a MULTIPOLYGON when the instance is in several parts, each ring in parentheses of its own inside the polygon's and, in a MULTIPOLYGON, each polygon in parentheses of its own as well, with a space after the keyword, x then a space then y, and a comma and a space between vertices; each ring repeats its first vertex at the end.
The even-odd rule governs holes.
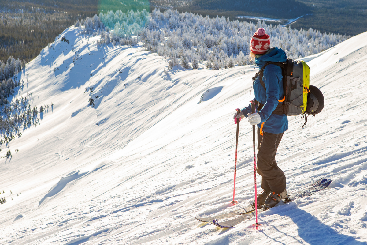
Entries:
MULTIPOLYGON (((266 87, 266 102, 264 107, 258 112, 261 118, 261 123, 268 120, 269 116, 276 109, 280 96, 280 82, 283 87, 283 75, 281 68, 277 65, 268 65, 264 69, 262 81, 266 87)), ((283 94, 283 91, 282 91, 283 94)))

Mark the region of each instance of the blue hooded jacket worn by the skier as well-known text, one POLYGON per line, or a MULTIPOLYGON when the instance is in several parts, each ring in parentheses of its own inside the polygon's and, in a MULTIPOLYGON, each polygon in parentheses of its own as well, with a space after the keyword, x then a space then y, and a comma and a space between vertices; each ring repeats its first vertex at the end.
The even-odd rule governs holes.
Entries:
MULTIPOLYGON (((256 64, 261 68, 268 61, 287 61, 287 55, 282 49, 275 47, 270 53, 264 54, 255 59, 256 64)), ((267 65, 264 69, 262 81, 265 83, 266 91, 261 86, 259 77, 252 84, 255 94, 255 99, 264 107, 260 111, 256 111, 261 118, 261 123, 265 122, 262 131, 267 133, 283 133, 288 130, 288 118, 285 114, 272 114, 278 105, 278 100, 283 99, 283 72, 277 65, 267 65)), ((251 104, 242 109, 243 114, 251 112, 251 104)), ((257 126, 261 127, 261 123, 257 126)))

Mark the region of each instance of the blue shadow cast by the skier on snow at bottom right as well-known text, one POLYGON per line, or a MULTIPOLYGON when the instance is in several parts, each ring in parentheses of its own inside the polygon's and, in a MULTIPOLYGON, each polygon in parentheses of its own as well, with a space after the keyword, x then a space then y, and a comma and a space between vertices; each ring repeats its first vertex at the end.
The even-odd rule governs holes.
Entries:
MULTIPOLYGON (((317 217, 311 215, 305 210, 297 208, 294 210, 288 210, 288 212, 284 214, 290 217, 293 223, 297 225, 298 236, 310 245, 367 245, 367 242, 360 242, 354 237, 338 233, 333 228, 322 223, 319 219, 317 219, 317 217)), ((281 231, 279 232, 283 233, 281 231)), ((283 234, 285 236, 292 237, 286 233, 283 234)), ((264 233, 264 235, 266 234, 264 233)), ((279 244, 284 244, 283 242, 277 241, 275 238, 272 238, 268 235, 266 236, 273 239, 275 242, 278 242, 279 244)), ((303 243, 296 237, 292 238, 300 244, 303 243)))

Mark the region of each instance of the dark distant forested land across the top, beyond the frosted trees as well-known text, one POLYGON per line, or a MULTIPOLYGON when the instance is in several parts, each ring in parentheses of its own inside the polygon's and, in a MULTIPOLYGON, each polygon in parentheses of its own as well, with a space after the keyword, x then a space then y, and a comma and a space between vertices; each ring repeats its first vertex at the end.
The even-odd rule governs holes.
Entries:
MULTIPOLYGON (((177 9, 235 20, 239 15, 296 18, 292 28, 356 35, 367 31, 367 2, 362 0, 0 0, 0 60, 32 60, 55 36, 78 19, 108 10, 177 9), (140 4, 140 5, 139 5, 140 4)), ((246 19, 239 19, 246 21, 246 19)), ((270 24, 270 22, 267 22, 270 24)))

